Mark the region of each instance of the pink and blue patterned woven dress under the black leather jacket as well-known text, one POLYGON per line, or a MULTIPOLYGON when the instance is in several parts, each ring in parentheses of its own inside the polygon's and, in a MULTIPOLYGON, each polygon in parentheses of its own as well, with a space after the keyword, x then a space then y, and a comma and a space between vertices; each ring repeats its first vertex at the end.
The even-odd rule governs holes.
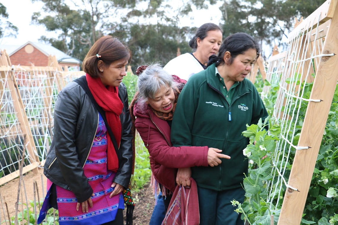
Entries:
MULTIPOLYGON (((88 177, 88 182, 93 189, 93 207, 88 208, 88 213, 82 213, 81 209, 76 211, 77 199, 74 193, 56 185, 60 225, 102 224, 115 220, 117 210, 124 209, 122 193, 115 195, 112 198, 109 197, 114 190, 111 185, 113 183, 115 173, 111 170, 107 170, 106 131, 104 121, 101 115, 99 115, 96 136, 87 161, 83 166, 84 175, 88 177)), ((49 189, 47 190, 48 193, 45 198, 46 203, 44 202, 43 205, 48 205, 50 191, 49 189)))

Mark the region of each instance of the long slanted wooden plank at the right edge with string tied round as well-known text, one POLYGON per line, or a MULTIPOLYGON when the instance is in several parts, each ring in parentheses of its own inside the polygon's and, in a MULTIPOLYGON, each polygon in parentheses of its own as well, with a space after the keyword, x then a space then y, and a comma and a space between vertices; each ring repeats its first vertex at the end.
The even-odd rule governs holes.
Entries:
POLYGON ((316 164, 322 135, 336 88, 338 73, 338 5, 335 5, 328 34, 325 38, 323 53, 336 53, 322 57, 314 79, 311 99, 321 102, 309 102, 298 146, 310 146, 310 149, 296 150, 288 185, 299 191, 287 189, 279 217, 278 225, 300 224, 308 195, 313 170, 316 164))

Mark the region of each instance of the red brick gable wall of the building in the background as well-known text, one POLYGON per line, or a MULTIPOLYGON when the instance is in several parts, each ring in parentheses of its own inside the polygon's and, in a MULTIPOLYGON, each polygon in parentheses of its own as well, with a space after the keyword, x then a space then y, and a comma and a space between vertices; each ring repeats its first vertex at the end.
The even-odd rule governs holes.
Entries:
POLYGON ((10 62, 12 65, 21 65, 21 66, 48 66, 48 56, 43 54, 41 51, 33 48, 33 52, 28 54, 25 51, 25 46, 22 47, 19 51, 11 55, 10 62))

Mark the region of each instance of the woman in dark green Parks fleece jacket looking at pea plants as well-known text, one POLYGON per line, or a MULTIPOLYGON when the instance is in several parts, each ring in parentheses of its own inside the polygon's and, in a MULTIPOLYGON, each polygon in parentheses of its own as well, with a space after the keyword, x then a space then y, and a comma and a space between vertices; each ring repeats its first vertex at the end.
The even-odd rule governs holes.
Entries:
POLYGON ((231 200, 244 201, 248 160, 242 135, 246 124, 268 116, 255 86, 245 77, 259 56, 257 42, 235 33, 222 43, 206 70, 192 76, 182 90, 171 129, 173 146, 213 146, 231 156, 216 167, 192 167, 198 188, 200 224, 240 225, 231 200))

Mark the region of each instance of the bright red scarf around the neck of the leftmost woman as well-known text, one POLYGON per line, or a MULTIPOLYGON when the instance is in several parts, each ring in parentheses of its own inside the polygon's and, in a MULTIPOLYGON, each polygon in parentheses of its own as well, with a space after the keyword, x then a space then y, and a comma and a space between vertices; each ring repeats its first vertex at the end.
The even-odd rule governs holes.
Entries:
MULTIPOLYGON (((118 87, 108 86, 107 88, 103 85, 100 78, 93 78, 89 74, 86 74, 88 87, 95 101, 105 111, 108 125, 110 126, 118 147, 121 142, 121 121, 120 114, 122 113, 123 103, 118 95, 118 87)), ((107 132, 107 166, 109 170, 117 172, 119 168, 119 159, 114 148, 112 140, 107 132)))

